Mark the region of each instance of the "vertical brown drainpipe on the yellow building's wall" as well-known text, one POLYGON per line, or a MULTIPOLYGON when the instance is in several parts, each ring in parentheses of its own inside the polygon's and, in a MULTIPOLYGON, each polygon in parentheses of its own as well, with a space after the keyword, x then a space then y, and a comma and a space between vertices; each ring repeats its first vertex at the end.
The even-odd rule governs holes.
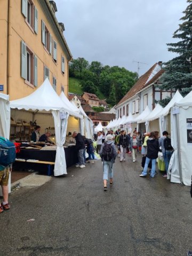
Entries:
POLYGON ((8 9, 7 9, 7 91, 10 93, 10 36, 11 36, 11 0, 8 0, 8 9))

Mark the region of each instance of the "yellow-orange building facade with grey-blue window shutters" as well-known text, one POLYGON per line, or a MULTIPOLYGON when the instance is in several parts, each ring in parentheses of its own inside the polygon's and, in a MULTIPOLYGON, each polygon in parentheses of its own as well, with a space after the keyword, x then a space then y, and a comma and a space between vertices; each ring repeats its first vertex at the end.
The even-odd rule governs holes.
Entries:
POLYGON ((10 100, 26 97, 48 77, 68 97, 72 55, 54 1, 1 0, 0 10, 0 92, 10 100))

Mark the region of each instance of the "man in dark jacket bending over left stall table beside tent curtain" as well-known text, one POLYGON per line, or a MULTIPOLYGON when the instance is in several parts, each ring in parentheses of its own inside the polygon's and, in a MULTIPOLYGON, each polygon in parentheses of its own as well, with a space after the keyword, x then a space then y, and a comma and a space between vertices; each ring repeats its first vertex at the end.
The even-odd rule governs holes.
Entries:
POLYGON ((84 151, 85 151, 85 140, 81 133, 74 132, 72 135, 76 141, 76 149, 78 151, 78 164, 76 167, 84 168, 85 167, 85 159, 84 159, 84 151))

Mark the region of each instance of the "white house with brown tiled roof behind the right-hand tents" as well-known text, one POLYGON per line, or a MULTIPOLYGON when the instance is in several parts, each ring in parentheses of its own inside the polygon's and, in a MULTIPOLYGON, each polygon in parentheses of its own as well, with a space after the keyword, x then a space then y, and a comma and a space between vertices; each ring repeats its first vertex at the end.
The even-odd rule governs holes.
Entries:
POLYGON ((130 113, 133 117, 137 117, 147 106, 152 111, 159 100, 173 97, 175 91, 158 88, 158 85, 162 83, 163 73, 162 62, 159 61, 142 75, 115 106, 116 118, 129 116, 130 113))

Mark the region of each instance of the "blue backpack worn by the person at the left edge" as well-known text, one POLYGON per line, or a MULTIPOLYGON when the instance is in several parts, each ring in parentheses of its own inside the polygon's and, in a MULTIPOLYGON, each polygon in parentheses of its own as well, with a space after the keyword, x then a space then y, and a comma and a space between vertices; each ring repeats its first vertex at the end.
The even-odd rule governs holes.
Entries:
POLYGON ((0 137, 0 165, 3 167, 15 161, 16 150, 14 143, 8 139, 0 137))

